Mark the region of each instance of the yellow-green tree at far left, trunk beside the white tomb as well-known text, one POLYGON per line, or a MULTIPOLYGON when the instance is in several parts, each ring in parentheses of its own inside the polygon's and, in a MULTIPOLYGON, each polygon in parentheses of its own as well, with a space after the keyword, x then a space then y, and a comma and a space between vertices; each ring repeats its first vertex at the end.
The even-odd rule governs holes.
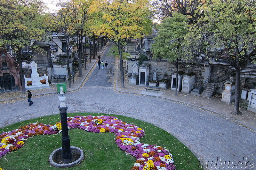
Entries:
POLYGON ((40 14, 44 10, 40 0, 2 0, 0 2, 0 46, 10 48, 16 53, 20 66, 22 92, 25 93, 25 79, 22 62, 28 59, 24 48, 38 49, 36 41, 44 38, 40 14))

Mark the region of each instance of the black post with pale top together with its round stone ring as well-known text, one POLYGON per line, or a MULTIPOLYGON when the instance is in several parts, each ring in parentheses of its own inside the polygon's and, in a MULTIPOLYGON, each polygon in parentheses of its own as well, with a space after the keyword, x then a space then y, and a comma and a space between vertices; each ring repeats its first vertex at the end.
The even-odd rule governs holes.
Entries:
POLYGON ((58 168, 68 168, 78 165, 84 159, 84 152, 82 149, 70 146, 70 139, 68 136, 68 121, 67 121, 67 105, 64 101, 66 95, 63 92, 63 87, 60 87, 60 120, 61 120, 61 133, 62 133, 62 147, 54 150, 49 157, 50 164, 58 168), (73 157, 72 154, 77 154, 78 157, 73 157))

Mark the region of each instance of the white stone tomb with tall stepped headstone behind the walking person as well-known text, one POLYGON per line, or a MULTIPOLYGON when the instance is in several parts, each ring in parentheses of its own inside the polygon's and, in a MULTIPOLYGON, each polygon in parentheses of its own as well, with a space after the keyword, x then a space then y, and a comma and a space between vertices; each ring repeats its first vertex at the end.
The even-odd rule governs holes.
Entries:
POLYGON ((36 90, 36 89, 44 89, 44 88, 51 87, 49 85, 48 76, 44 74, 44 76, 40 77, 39 74, 37 73, 37 64, 35 62, 32 62, 30 66, 32 70, 30 78, 26 78, 26 76, 24 76, 26 90, 36 90), (45 80, 46 84, 42 84, 40 80, 45 80), (32 81, 32 85, 28 86, 27 81, 32 81))

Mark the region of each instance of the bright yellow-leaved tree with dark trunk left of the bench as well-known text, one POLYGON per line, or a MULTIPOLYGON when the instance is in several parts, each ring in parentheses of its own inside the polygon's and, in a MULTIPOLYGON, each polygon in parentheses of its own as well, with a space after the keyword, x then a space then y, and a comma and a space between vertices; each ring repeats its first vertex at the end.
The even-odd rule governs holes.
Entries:
POLYGON ((122 51, 126 40, 140 38, 141 32, 151 25, 152 13, 149 10, 148 0, 97 1, 91 6, 91 13, 95 19, 93 32, 98 36, 107 36, 117 45, 121 81, 124 87, 122 51))

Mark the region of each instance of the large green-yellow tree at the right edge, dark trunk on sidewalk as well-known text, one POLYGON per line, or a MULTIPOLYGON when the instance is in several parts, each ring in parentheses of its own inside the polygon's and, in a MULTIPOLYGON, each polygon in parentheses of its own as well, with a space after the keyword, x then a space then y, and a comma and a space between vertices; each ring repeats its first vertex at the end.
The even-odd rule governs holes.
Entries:
POLYGON ((211 0, 201 9, 202 17, 194 29, 201 35, 211 35, 211 45, 225 47, 227 55, 233 56, 236 69, 234 114, 240 114, 240 70, 247 60, 255 63, 256 2, 253 0, 211 0))

